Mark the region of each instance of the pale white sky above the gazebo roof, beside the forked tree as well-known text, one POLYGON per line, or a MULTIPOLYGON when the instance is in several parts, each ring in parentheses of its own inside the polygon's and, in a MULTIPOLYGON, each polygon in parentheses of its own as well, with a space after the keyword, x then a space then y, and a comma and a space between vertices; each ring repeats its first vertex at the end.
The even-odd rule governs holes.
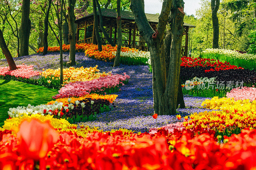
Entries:
MULTIPOLYGON (((144 0, 145 13, 156 14, 161 13, 162 2, 161 0, 144 0)), ((196 9, 200 8, 200 0, 184 0, 184 11, 188 14, 196 16, 196 9)))

